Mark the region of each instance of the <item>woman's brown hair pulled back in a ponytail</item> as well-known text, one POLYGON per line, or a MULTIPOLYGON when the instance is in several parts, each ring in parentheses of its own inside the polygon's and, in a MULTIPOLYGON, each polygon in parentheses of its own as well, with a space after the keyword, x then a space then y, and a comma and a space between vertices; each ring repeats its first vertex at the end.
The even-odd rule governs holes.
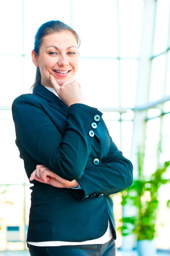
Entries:
MULTIPOLYGON (((79 47, 80 46, 80 36, 75 32, 74 29, 72 29, 70 26, 66 25, 65 23, 63 23, 60 20, 50 20, 46 23, 43 23, 37 30, 37 33, 35 35, 35 43, 34 43, 35 55, 39 54, 41 44, 43 43, 43 38, 46 35, 52 34, 54 32, 61 32, 63 30, 70 31, 70 32, 72 32, 73 35, 75 35, 75 38, 77 40, 78 47, 79 47)), ((31 90, 33 90, 36 87, 37 82, 41 82, 41 74, 40 74, 39 67, 37 67, 36 75, 35 75, 35 82, 32 85, 31 90)))

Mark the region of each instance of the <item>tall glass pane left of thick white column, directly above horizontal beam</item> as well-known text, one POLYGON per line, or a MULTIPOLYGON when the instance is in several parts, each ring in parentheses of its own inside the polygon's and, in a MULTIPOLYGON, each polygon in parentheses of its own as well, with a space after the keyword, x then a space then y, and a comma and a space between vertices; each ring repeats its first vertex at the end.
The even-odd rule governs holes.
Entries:
POLYGON ((121 107, 135 106, 135 92, 138 76, 138 60, 121 60, 121 107))

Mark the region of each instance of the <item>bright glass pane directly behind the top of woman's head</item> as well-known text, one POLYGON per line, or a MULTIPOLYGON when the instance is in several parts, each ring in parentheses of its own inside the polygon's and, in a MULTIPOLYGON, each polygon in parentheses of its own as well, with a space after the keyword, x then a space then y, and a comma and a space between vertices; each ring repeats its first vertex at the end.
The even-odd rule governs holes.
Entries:
POLYGON ((24 53, 30 55, 34 48, 37 29, 49 20, 61 20, 70 25, 70 0, 23 0, 24 2, 24 53), (31 18, 30 18, 31 15, 31 18))

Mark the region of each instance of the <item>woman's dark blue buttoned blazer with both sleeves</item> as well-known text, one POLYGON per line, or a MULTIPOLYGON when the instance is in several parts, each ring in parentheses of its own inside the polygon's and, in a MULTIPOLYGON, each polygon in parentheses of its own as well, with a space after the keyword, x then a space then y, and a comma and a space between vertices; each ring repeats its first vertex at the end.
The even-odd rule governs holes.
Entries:
POLYGON ((38 83, 34 93, 14 100, 12 114, 28 178, 43 164, 66 180, 77 179, 82 187, 55 188, 33 180, 27 241, 97 239, 106 232, 108 218, 116 239, 109 195, 132 184, 133 166, 113 143, 102 113, 85 104, 68 108, 38 83))

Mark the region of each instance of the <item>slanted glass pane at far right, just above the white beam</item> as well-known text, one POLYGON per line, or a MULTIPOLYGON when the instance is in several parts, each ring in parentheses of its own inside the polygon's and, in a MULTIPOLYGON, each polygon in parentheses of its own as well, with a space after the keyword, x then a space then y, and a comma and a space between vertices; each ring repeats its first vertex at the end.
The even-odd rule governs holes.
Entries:
POLYGON ((165 54, 152 61, 149 101, 160 99, 164 95, 165 54))

